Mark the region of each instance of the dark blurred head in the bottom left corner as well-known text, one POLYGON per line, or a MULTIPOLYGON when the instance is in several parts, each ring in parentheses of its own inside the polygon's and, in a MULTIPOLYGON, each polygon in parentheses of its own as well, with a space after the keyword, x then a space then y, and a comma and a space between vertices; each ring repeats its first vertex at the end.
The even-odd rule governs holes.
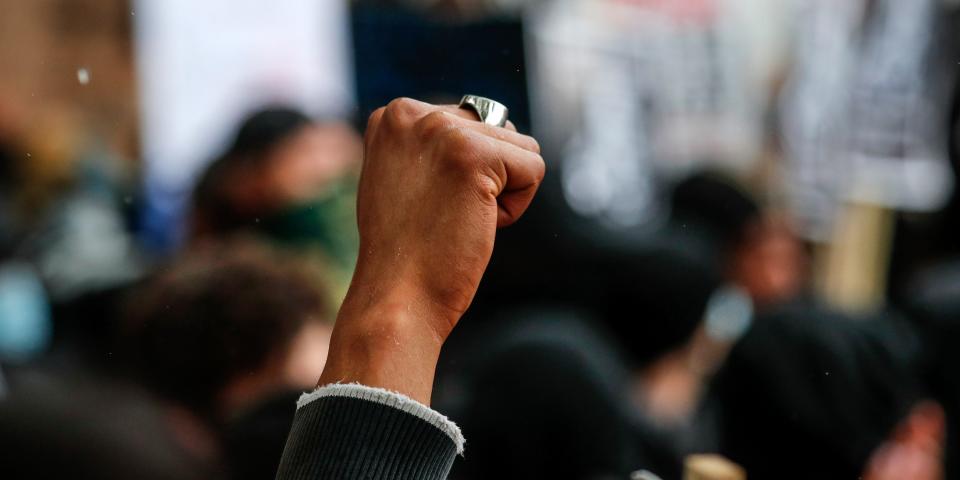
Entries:
POLYGON ((11 479, 221 478, 185 448, 170 420, 154 398, 122 382, 31 385, 0 402, 0 473, 11 479))

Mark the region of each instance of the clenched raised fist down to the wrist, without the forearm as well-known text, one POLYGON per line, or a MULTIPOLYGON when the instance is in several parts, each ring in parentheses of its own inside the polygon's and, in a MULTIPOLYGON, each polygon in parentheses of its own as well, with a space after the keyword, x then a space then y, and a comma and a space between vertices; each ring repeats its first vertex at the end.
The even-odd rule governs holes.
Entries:
POLYGON ((370 116, 357 198, 360 255, 344 308, 392 305, 442 341, 477 290, 498 227, 544 175, 536 140, 454 106, 397 99, 370 116))

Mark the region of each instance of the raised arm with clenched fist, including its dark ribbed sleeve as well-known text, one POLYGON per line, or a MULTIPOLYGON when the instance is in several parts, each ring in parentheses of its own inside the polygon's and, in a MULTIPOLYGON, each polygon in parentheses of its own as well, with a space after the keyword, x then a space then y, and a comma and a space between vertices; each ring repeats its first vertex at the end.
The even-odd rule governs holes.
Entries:
POLYGON ((496 229, 519 218, 544 175, 535 140, 472 115, 399 99, 371 116, 357 268, 320 393, 298 410, 278 478, 444 478, 462 448, 456 426, 427 407, 440 349, 473 299, 496 229), (357 398, 343 389, 362 387, 337 384, 379 390, 357 398), (404 397, 424 415, 390 405, 404 397))

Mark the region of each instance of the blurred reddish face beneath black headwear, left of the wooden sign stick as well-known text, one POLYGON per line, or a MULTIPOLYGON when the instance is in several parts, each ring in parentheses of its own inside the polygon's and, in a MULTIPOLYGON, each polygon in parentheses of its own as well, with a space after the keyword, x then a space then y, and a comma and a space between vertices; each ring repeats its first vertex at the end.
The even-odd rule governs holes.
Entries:
POLYGON ((747 229, 731 267, 734 281, 747 290, 754 303, 763 305, 801 292, 808 258, 786 223, 761 220, 747 229))

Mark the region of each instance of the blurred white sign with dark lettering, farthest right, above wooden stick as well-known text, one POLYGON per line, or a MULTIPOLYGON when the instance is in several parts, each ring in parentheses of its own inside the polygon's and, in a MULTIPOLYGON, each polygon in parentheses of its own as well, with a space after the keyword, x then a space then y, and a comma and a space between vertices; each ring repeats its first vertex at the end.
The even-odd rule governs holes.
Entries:
POLYGON ((809 237, 829 238, 846 201, 930 211, 948 198, 938 4, 798 2, 781 119, 785 186, 809 237))

